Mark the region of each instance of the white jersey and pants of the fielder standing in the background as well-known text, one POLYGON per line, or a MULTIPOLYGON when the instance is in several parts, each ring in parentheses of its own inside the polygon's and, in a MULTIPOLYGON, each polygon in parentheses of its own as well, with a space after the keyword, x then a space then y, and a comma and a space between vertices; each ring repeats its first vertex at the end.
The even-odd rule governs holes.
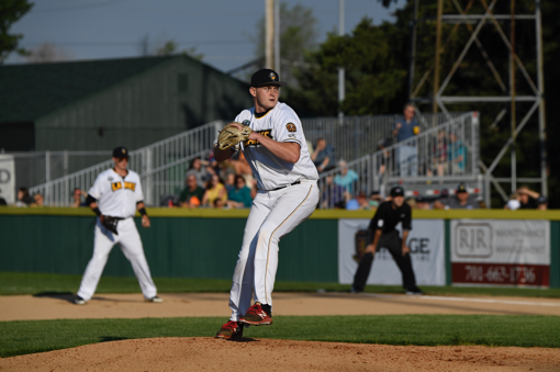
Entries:
POLYGON ((109 253, 113 246, 119 244, 124 256, 132 263, 144 297, 152 298, 156 296, 156 285, 152 280, 142 240, 133 218, 136 213, 136 203, 144 200, 138 174, 128 170, 128 173, 123 178, 113 169, 108 169, 98 176, 88 194, 97 199, 102 215, 124 219, 119 221, 116 225, 119 235, 108 230, 101 225, 99 218, 97 219, 93 257, 86 268, 78 295, 86 301, 91 300, 109 253))

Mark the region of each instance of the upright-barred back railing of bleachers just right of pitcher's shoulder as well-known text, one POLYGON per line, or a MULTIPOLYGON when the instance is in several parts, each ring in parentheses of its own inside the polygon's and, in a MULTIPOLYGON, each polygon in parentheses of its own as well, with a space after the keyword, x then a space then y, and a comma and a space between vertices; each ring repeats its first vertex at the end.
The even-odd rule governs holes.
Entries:
MULTIPOLYGON (((422 132, 461 116, 463 113, 417 114, 422 132)), ((351 161, 377 150, 380 142, 392 142, 392 127, 402 115, 320 117, 302 120, 305 138, 315 146, 325 138, 335 150, 335 160, 351 161)))

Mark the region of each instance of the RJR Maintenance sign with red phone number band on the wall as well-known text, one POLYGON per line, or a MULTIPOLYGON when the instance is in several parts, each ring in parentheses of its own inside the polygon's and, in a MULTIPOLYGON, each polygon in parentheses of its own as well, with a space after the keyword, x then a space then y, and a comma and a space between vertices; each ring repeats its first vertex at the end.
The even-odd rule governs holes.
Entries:
POLYGON ((548 286, 550 223, 451 221, 452 283, 548 286))

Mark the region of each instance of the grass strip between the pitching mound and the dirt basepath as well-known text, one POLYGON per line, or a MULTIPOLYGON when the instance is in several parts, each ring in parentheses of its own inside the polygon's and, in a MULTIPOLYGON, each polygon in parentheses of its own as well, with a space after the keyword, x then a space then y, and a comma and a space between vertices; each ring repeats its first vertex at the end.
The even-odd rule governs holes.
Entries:
MULTIPOLYGON (((216 317, 0 322, 0 357, 152 337, 213 337, 216 317)), ((419 345, 560 347, 560 317, 495 315, 278 316, 247 338, 419 345)), ((226 342, 226 341, 224 341, 226 342)))

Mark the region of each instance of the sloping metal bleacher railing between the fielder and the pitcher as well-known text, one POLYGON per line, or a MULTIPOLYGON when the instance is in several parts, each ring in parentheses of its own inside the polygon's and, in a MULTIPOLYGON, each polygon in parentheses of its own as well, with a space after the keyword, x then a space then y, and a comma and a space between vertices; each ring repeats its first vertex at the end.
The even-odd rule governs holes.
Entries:
MULTIPOLYGON (((141 176, 147 205, 158 205, 161 193, 176 193, 182 187, 186 166, 193 158, 208 155, 223 125, 222 121, 214 121, 130 153, 128 167, 141 176)), ((110 156, 111 151, 104 158, 110 156)), ((66 206, 74 189, 88 190, 97 176, 112 166, 112 160, 107 160, 30 188, 30 193, 43 194, 45 205, 66 206)))

